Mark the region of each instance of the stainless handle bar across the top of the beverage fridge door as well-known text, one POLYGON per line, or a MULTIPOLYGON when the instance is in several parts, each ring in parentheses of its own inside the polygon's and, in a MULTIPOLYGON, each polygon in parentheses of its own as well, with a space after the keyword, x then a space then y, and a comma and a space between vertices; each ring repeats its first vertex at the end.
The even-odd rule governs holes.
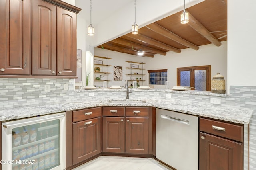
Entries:
POLYGON ((49 115, 49 116, 46 116, 45 118, 33 117, 33 118, 31 118, 32 120, 23 119, 19 122, 13 121, 13 123, 10 123, 10 122, 8 122, 8 124, 3 123, 3 127, 6 128, 6 129, 7 128, 12 128, 12 127, 20 127, 20 126, 24 126, 24 125, 31 125, 31 124, 34 124, 34 123, 39 123, 39 122, 42 122, 42 121, 50 121, 50 120, 54 120, 54 119, 59 119, 59 118, 62 118, 62 117, 65 117, 65 114, 49 115))

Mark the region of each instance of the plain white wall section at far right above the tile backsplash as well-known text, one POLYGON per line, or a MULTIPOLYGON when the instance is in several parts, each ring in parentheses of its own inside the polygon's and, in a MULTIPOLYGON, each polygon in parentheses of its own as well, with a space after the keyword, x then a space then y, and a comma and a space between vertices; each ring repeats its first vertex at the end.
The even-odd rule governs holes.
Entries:
POLYGON ((228 0, 228 85, 256 86, 255 0, 228 0))

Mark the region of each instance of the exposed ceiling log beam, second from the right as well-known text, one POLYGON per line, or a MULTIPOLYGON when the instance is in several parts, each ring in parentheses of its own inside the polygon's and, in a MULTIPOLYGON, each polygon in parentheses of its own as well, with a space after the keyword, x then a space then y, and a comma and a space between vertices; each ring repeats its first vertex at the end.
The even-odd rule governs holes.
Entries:
POLYGON ((198 50, 199 47, 197 45, 194 45, 192 43, 190 43, 189 41, 183 39, 182 37, 174 34, 173 32, 169 31, 168 29, 158 25, 157 23, 152 23, 150 25, 147 25, 146 28, 160 34, 163 35, 164 37, 167 37, 169 39, 172 39, 173 41, 176 41, 177 43, 180 43, 186 47, 190 47, 194 50, 198 50))

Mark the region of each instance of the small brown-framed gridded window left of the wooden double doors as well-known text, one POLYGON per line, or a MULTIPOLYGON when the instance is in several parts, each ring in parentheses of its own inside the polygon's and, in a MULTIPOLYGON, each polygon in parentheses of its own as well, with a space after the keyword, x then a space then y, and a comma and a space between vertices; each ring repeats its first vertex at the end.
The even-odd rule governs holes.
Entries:
POLYGON ((167 69, 148 70, 148 80, 148 84, 165 85, 165 81, 167 81, 167 69))

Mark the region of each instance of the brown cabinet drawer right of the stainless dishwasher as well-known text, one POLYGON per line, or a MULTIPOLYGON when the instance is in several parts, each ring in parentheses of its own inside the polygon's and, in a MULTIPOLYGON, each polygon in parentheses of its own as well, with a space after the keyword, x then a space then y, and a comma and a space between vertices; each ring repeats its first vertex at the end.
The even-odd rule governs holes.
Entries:
POLYGON ((200 131, 243 142, 243 126, 200 118, 200 131))

